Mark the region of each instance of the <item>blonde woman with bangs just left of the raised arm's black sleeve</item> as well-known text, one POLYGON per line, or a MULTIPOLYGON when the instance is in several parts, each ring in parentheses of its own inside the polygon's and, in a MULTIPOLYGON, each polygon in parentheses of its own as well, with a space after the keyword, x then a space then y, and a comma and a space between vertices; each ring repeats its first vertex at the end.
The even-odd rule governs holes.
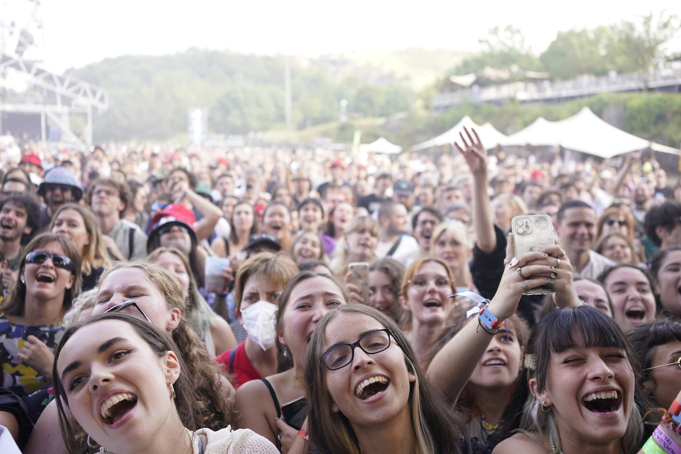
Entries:
POLYGON ((473 242, 466 227, 460 221, 448 221, 437 225, 430 240, 430 255, 442 259, 452 269, 456 291, 475 288, 469 262, 473 258, 473 242))

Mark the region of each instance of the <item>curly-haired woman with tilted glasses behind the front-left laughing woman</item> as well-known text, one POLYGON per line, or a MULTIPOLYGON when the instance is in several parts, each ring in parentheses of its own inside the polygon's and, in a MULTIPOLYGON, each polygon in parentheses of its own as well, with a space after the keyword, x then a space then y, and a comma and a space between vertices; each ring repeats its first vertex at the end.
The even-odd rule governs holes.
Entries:
MULTIPOLYGON (((93 316, 104 312, 126 312, 141 317, 165 331, 178 345, 176 353, 185 363, 199 395, 198 427, 219 430, 234 423, 234 388, 191 327, 187 304, 175 276, 146 261, 114 263, 99 278, 92 310, 93 316)), ((84 445, 84 437, 82 441, 84 445)), ((87 449, 85 446, 81 448, 78 452, 87 449)), ((50 404, 37 421, 25 453, 67 452, 59 430, 57 407, 50 404)))

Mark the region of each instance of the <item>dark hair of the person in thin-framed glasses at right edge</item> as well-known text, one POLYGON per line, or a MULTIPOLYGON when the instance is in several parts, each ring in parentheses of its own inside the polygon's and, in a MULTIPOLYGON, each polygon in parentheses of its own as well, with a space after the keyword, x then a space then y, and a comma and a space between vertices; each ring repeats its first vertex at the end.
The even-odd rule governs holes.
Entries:
POLYGON ((643 368, 641 383, 643 383, 650 376, 650 372, 646 371, 646 368, 652 366, 652 355, 655 353, 655 348, 670 342, 681 342, 681 322, 665 320, 643 323, 633 327, 627 333, 627 338, 636 351, 639 361, 641 361, 643 368))

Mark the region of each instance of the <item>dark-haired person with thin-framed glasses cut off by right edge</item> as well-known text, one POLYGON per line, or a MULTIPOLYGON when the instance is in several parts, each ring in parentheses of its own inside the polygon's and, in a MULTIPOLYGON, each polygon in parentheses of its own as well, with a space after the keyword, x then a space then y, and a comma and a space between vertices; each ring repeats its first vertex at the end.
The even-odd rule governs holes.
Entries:
POLYGON ((681 387, 681 322, 644 323, 629 331, 627 338, 641 361, 644 393, 655 406, 669 408, 681 387))

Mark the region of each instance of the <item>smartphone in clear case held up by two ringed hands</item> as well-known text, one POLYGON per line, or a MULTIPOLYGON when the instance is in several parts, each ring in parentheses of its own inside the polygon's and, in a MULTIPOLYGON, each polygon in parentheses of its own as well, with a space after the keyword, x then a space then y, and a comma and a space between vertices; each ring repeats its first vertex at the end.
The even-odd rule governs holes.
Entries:
MULTIPOLYGON (((540 250, 543 246, 556 244, 553 223, 548 214, 523 214, 511 219, 513 232, 513 253, 520 257, 524 253, 540 250)), ((523 295, 546 295, 554 291, 551 287, 537 287, 523 295)))

